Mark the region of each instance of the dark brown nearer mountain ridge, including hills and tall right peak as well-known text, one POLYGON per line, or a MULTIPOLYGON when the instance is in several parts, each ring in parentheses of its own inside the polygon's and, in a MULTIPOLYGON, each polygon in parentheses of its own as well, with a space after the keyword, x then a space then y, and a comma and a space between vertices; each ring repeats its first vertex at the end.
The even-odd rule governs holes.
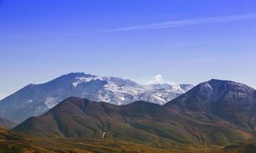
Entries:
POLYGON ((254 138, 255 104, 251 87, 210 80, 164 106, 144 101, 115 106, 71 97, 15 130, 45 137, 228 145, 254 138))

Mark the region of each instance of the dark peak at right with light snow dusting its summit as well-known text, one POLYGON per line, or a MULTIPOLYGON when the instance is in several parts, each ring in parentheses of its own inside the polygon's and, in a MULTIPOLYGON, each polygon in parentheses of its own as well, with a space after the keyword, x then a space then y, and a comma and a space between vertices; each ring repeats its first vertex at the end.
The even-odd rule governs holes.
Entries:
POLYGON ((256 125, 255 90, 231 81, 201 83, 165 107, 201 121, 214 122, 218 117, 250 131, 256 125))

